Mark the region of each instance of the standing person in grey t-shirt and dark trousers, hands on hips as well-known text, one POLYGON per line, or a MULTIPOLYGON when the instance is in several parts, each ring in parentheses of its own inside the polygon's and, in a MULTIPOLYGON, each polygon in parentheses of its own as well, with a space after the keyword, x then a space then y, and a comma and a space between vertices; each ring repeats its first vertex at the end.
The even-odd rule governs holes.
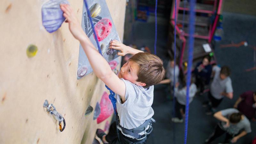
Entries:
POLYGON ((210 92, 208 93, 208 99, 210 101, 204 102, 203 106, 208 105, 206 115, 211 115, 216 112, 216 108, 220 105, 223 97, 226 96, 229 99, 233 98, 233 88, 230 75, 230 69, 227 66, 212 68, 213 81, 210 85, 210 92))

